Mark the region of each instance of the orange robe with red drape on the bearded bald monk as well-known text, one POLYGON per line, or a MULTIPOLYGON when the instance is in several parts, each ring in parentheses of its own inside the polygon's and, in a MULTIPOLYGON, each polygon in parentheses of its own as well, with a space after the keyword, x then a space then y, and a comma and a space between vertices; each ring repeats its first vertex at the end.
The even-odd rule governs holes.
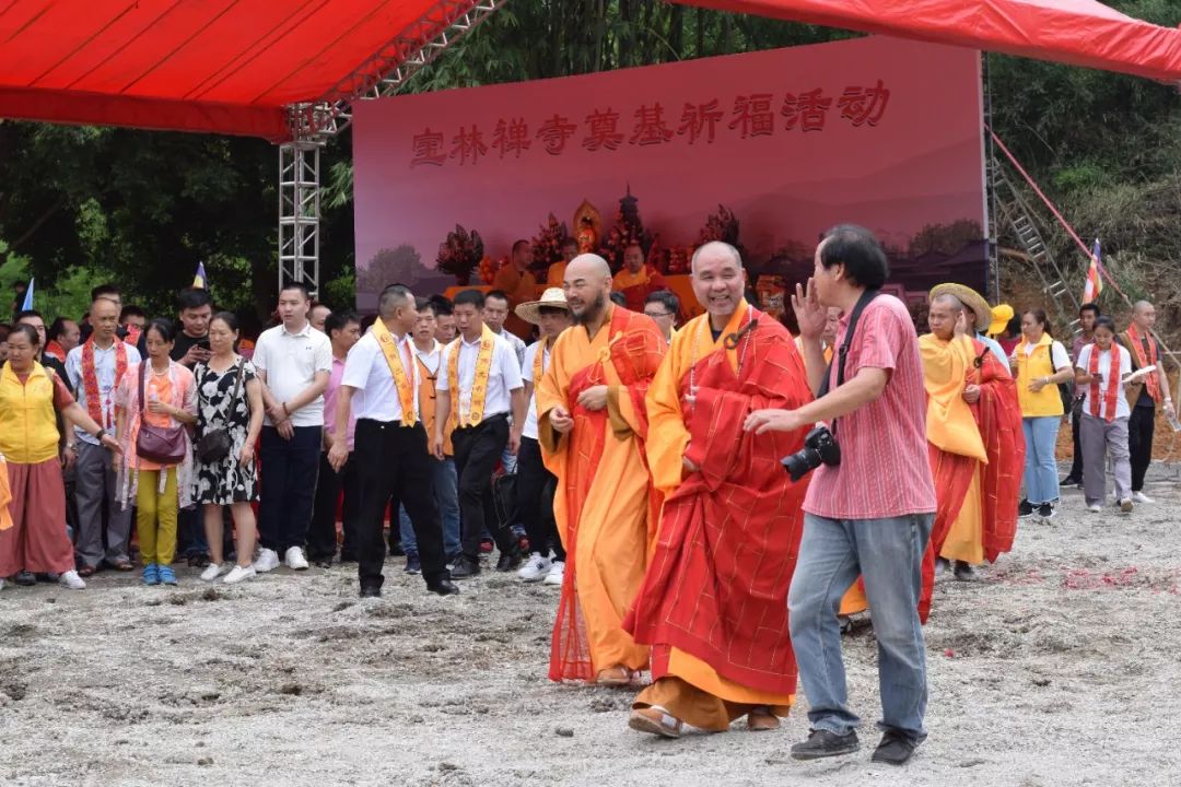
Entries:
POLYGON ((648 664, 648 649, 622 621, 644 581, 660 510, 644 455, 645 396, 667 349, 651 317, 609 306, 594 337, 583 326, 562 332, 537 385, 539 442, 557 476, 554 518, 567 552, 552 680, 589 681, 612 667, 648 664), (578 406, 579 394, 598 385, 608 386, 607 408, 578 406), (550 425, 555 407, 574 418, 570 433, 550 425))

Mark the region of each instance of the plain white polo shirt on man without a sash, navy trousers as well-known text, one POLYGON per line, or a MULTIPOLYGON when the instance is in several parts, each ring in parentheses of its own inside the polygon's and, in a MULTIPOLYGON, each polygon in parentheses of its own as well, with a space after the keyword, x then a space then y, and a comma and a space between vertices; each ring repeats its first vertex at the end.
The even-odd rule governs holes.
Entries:
MULTIPOLYGON (((267 373, 267 387, 279 401, 291 401, 315 380, 317 372, 332 374, 332 342, 304 323, 292 334, 283 326, 262 332, 254 347, 254 366, 267 373)), ((274 426, 270 418, 263 422, 274 426)), ((324 395, 295 411, 292 426, 324 426, 324 395)))

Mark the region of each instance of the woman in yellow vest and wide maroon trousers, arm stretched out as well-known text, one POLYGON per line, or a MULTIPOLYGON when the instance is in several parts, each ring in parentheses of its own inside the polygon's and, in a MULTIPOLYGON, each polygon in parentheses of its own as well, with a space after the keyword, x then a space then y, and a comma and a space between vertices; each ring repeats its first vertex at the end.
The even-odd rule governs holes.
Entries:
POLYGON ((18 571, 57 573, 71 590, 86 583, 74 570, 73 545, 66 536, 66 492, 56 413, 93 434, 116 453, 107 434, 78 406, 65 382, 34 359, 40 337, 31 326, 8 334, 8 362, 0 369, 0 454, 12 499, 11 517, 0 518, 0 588, 18 571))

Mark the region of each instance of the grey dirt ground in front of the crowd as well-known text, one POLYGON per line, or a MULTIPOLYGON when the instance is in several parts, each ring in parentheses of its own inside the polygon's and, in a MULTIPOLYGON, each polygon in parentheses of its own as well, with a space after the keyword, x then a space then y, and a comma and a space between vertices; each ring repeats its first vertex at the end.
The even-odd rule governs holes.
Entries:
POLYGON ((5 588, 0 783, 1175 785, 1179 477, 1154 471, 1157 505, 1130 516, 1071 491, 983 581, 937 589, 931 737, 902 769, 869 762, 863 622, 844 649, 862 752, 798 763, 800 710, 776 733, 633 733, 632 691, 546 680, 556 589, 494 572, 438 598, 392 558, 365 602, 346 569, 5 588))

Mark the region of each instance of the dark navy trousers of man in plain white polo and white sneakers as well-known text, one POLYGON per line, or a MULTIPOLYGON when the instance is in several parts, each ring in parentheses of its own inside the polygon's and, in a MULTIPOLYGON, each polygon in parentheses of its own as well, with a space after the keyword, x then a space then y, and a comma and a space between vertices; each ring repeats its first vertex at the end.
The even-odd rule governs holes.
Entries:
POLYGON ((322 439, 319 426, 296 426, 291 440, 273 426, 262 427, 259 542, 279 552, 280 560, 292 546, 302 549, 307 542, 322 439))

